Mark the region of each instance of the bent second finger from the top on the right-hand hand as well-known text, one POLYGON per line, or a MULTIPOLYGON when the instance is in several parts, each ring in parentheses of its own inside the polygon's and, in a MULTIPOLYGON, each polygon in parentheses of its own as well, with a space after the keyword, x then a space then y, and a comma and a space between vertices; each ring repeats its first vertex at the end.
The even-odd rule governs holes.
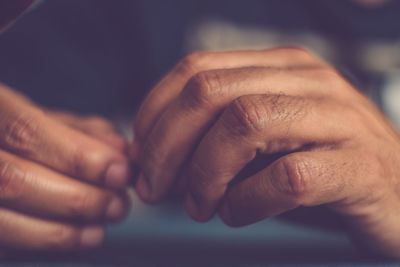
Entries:
POLYGON ((237 97, 266 93, 323 97, 326 92, 321 87, 330 86, 327 75, 333 80, 334 74, 326 69, 244 68, 196 75, 144 142, 139 162, 144 181, 138 180, 139 195, 149 202, 163 198, 201 136, 237 97))

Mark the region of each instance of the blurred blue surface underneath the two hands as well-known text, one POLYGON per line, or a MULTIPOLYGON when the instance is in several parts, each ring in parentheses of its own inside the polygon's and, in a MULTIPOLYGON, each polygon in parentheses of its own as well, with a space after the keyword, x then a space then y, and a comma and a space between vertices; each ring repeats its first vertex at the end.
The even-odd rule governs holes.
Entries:
POLYGON ((370 262, 344 234, 276 219, 239 229, 218 218, 198 224, 176 204, 147 207, 136 199, 134 203, 128 218, 110 227, 104 247, 97 251, 34 257, 4 266, 400 266, 370 262))

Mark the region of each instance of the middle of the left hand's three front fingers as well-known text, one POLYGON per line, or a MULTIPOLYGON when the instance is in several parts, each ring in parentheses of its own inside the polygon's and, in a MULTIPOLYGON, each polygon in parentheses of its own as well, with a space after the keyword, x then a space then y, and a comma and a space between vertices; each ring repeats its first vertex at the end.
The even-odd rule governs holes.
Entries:
POLYGON ((116 221, 122 195, 82 183, 0 151, 0 205, 49 219, 116 221))

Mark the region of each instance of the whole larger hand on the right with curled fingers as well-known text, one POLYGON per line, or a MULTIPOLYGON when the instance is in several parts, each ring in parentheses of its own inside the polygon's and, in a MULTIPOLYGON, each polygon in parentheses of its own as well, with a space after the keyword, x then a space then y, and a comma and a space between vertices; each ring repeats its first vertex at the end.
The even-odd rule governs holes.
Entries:
POLYGON ((134 129, 147 202, 187 184, 191 217, 219 212, 231 226, 325 205, 358 243, 400 257, 399 134, 304 50, 190 55, 151 91, 134 129))

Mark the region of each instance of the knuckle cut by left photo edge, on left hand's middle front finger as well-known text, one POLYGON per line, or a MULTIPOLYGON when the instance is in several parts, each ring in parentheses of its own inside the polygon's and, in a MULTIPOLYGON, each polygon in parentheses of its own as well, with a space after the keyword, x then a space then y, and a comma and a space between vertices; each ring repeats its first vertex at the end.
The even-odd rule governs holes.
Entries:
POLYGON ((0 199, 15 202, 23 196, 25 172, 13 163, 0 161, 0 199))

